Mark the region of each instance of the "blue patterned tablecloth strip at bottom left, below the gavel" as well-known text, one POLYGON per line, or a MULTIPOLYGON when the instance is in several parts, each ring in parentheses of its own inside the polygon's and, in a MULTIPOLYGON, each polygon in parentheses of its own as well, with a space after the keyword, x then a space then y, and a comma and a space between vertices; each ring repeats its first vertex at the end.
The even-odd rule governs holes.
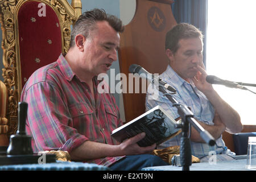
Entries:
POLYGON ((0 166, 0 171, 109 171, 110 168, 82 162, 56 162, 48 164, 20 164, 0 166))

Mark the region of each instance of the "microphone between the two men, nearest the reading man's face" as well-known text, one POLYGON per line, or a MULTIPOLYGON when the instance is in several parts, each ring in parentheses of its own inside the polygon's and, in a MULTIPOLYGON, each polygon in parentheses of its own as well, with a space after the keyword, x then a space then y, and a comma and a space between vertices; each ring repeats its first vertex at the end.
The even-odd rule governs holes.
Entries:
POLYGON ((163 85, 164 88, 166 88, 167 90, 169 90, 171 92, 175 92, 175 93, 177 92, 174 88, 172 88, 171 85, 167 84, 167 82, 163 81, 158 76, 154 76, 151 73, 148 73, 146 71, 146 69, 142 68, 140 65, 137 65, 137 64, 130 65, 129 72, 133 73, 133 74, 138 73, 139 77, 146 78, 146 79, 150 80, 154 85, 156 85, 156 82, 154 81, 156 79, 156 80, 158 80, 159 85, 163 85))

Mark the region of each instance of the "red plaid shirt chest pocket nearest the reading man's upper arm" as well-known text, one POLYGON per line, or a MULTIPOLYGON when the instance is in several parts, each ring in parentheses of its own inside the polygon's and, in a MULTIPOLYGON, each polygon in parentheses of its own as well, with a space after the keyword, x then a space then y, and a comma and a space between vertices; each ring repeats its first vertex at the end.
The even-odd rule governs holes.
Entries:
POLYGON ((72 117, 73 127, 80 133, 88 136, 94 129, 87 129, 87 126, 93 126, 94 111, 87 104, 76 104, 69 107, 72 117))

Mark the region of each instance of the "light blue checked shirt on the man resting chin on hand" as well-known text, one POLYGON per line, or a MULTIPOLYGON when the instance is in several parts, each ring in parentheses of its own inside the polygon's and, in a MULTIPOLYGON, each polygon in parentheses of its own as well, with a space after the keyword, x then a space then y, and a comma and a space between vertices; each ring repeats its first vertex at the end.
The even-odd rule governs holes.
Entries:
MULTIPOLYGON (((191 111, 195 116, 195 119, 198 121, 204 122, 207 125, 214 125, 214 108, 210 104, 209 100, 205 95, 200 92, 193 84, 183 80, 177 73, 168 65, 166 71, 159 76, 162 80, 166 81, 169 85, 177 90, 176 94, 173 94, 172 97, 175 98, 179 104, 184 104, 191 107, 191 111)), ((160 105, 166 110, 174 119, 179 118, 180 115, 177 113, 176 107, 172 106, 172 102, 168 100, 162 92, 158 92, 157 89, 148 86, 147 95, 146 95, 146 111, 160 105)), ((176 137, 167 140, 166 142, 160 144, 158 148, 166 148, 170 146, 180 146, 181 134, 176 137)), ((222 135, 216 140, 218 146, 225 147, 224 140, 222 140, 222 135)), ((209 146, 207 143, 198 143, 191 142, 191 152, 192 155, 197 158, 203 158, 209 155, 209 152, 216 152, 216 154, 229 154, 235 155, 234 152, 231 152, 229 149, 224 150, 222 147, 209 146)))

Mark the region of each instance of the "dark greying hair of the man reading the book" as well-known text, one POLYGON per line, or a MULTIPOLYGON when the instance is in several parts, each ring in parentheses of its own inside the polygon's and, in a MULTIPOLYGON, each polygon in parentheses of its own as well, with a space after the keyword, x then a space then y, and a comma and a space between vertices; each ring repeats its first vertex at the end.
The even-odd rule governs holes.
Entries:
POLYGON ((96 23, 100 21, 106 21, 117 32, 123 32, 124 26, 122 21, 114 15, 106 14, 103 9, 93 9, 82 13, 77 19, 73 29, 71 31, 71 40, 69 47, 75 46, 75 37, 78 34, 88 37, 91 31, 95 30, 96 23))

